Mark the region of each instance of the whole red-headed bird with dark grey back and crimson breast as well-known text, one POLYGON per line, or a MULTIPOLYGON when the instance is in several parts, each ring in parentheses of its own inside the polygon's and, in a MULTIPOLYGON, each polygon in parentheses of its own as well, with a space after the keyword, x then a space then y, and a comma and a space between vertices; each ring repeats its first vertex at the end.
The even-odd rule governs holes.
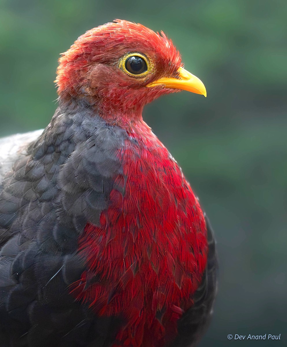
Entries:
POLYGON ((143 107, 206 96, 163 32, 95 27, 43 130, 0 140, 0 346, 191 347, 217 291, 210 222, 143 107))

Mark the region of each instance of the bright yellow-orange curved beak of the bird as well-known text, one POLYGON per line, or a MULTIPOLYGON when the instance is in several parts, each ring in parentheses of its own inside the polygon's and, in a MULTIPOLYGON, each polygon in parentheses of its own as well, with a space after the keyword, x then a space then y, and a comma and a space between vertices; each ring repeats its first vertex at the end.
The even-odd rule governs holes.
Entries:
POLYGON ((206 89, 204 84, 199 78, 192 75, 189 71, 180 67, 177 72, 179 73, 178 78, 163 77, 159 78, 157 81, 150 83, 147 87, 154 87, 157 85, 162 85, 164 88, 176 88, 181 90, 187 90, 188 92, 202 94, 206 96, 206 89))

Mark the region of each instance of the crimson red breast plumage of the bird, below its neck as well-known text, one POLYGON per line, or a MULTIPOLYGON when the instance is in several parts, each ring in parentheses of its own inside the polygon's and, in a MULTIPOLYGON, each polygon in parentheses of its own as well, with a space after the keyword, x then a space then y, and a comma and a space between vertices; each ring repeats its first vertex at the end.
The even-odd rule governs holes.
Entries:
POLYGON ((144 122, 129 135, 101 227, 88 224, 79 241, 89 270, 72 291, 98 315, 126 321, 113 347, 160 347, 192 305, 207 263, 206 225, 163 144, 144 122))

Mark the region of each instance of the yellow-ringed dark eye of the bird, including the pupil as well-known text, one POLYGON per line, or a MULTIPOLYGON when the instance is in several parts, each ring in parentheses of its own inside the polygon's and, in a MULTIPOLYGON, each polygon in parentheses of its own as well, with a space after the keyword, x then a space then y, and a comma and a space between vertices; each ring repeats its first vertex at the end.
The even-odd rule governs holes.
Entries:
POLYGON ((153 68, 145 54, 132 52, 125 54, 119 61, 119 68, 131 77, 145 77, 153 68))

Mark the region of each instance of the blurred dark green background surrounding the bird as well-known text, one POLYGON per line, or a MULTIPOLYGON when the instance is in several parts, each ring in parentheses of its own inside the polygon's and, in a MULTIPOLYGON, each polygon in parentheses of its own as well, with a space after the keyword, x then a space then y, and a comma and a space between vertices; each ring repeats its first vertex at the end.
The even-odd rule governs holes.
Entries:
POLYGON ((49 123, 59 53, 114 18, 163 30, 207 88, 144 110, 216 233, 219 293, 200 347, 286 346, 287 1, 1 0, 1 136, 49 123))

